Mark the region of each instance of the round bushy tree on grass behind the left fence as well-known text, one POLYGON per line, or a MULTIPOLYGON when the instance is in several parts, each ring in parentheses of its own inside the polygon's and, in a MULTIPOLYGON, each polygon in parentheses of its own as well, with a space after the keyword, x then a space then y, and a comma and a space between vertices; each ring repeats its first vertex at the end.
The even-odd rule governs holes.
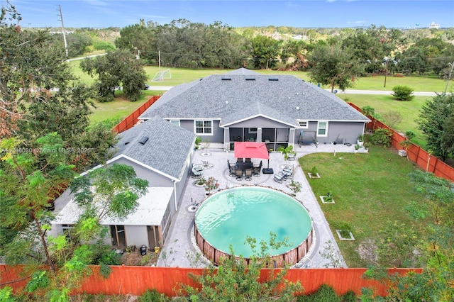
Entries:
POLYGON ((143 61, 137 60, 129 50, 114 50, 106 55, 88 57, 82 60, 80 66, 90 76, 98 76, 95 86, 100 101, 114 100, 118 86, 123 86, 124 94, 130 101, 138 101, 147 80, 143 61))

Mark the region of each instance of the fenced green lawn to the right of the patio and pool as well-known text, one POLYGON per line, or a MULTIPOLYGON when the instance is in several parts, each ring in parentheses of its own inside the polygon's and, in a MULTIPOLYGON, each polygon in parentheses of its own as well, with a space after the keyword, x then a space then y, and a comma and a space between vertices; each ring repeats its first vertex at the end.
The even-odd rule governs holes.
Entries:
POLYGON ((321 209, 330 225, 348 267, 370 264, 361 259, 358 247, 367 240, 377 240, 380 228, 388 221, 411 225, 404 208, 411 201, 421 200, 412 191, 407 174, 414 164, 384 147, 372 146, 368 154, 313 153, 299 159, 304 172, 316 166, 320 179, 309 179, 315 196, 333 194, 334 204, 321 203, 321 209), (355 241, 341 241, 336 228, 349 223, 355 241))

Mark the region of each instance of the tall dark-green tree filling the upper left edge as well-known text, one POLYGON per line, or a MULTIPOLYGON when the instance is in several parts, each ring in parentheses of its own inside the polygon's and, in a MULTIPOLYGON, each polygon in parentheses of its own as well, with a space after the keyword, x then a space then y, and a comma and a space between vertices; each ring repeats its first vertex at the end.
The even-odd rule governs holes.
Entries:
POLYGON ((77 82, 64 47, 45 30, 21 30, 13 23, 21 19, 13 6, 1 11, 0 138, 13 136, 33 149, 38 138, 56 132, 79 171, 105 160, 101 152, 114 144, 115 134, 109 128, 89 131, 92 91, 77 82))

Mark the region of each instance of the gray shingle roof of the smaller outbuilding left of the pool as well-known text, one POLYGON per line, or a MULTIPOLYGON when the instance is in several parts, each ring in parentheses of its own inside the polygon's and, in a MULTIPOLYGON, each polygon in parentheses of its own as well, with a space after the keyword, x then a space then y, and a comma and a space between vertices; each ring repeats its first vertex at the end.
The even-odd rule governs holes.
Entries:
POLYGON ((160 117, 135 125, 119 136, 114 157, 131 157, 173 179, 181 179, 196 138, 194 133, 160 117), (142 145, 140 140, 144 137, 148 137, 148 141, 142 145))

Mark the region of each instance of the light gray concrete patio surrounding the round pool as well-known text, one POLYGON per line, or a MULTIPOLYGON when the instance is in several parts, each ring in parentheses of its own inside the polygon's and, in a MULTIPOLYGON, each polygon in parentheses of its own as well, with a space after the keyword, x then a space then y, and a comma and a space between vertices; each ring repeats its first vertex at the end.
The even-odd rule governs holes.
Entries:
MULTIPOLYGON (((204 147, 204 144, 202 144, 204 147)), ((297 159, 304 155, 308 155, 314 152, 354 152, 354 146, 346 145, 303 145, 299 147, 296 145, 294 150, 297 152, 297 159)), ((208 147, 204 147, 201 150, 197 150, 194 155, 194 164, 202 162, 208 162, 209 167, 204 169, 204 178, 214 177, 220 184, 220 189, 231 188, 234 186, 244 185, 260 185, 269 186, 289 194, 292 191, 286 186, 289 181, 283 181, 279 184, 273 180, 274 174, 261 174, 260 177, 252 177, 250 181, 237 180, 235 177, 229 177, 227 160, 231 163, 236 162, 234 152, 226 152, 223 150, 222 145, 210 144, 208 147)), ((260 162, 260 160, 253 159, 253 162, 260 162)), ((284 156, 280 152, 270 153, 270 168, 275 173, 282 170, 282 166, 286 164, 284 162, 284 156)), ((301 183, 301 191, 297 194, 296 198, 300 201, 309 211, 314 225, 316 239, 308 252, 308 255, 301 259, 301 261, 295 265, 299 268, 316 268, 316 267, 333 267, 333 257, 339 260, 341 267, 346 267, 346 264, 341 256, 341 252, 338 249, 336 240, 333 237, 333 233, 328 226, 328 223, 321 211, 318 197, 314 195, 309 186, 309 182, 304 176, 299 167, 298 160, 289 161, 287 164, 294 165, 294 181, 301 183), (333 257, 322 257, 321 252, 326 250, 331 245, 333 249, 333 257)), ((267 160, 263 160, 263 167, 267 167, 267 160)), ((323 176, 322 176, 323 177, 323 176)), ((196 247, 193 227, 194 227, 194 215, 195 212, 192 210, 192 201, 201 203, 206 198, 205 190, 201 186, 194 184, 195 179, 188 179, 182 201, 179 205, 179 209, 175 214, 172 221, 169 234, 165 246, 162 247, 162 253, 160 259, 157 262, 158 266, 167 267, 206 267, 209 262, 204 257, 197 257, 196 255, 203 255, 196 247), (198 259, 196 261, 196 259, 198 259)), ((323 181, 323 179, 321 180, 323 181)))

